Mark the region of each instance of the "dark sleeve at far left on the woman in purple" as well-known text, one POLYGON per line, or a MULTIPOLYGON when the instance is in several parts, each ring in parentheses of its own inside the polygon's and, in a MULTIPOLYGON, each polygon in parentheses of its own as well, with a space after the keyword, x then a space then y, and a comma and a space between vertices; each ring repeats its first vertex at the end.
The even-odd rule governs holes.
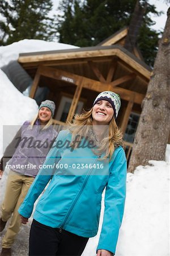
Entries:
POLYGON ((10 160, 12 158, 12 155, 14 155, 15 150, 16 150, 16 141, 19 137, 21 137, 21 134, 22 134, 22 127, 20 127, 20 129, 16 133, 14 139, 12 139, 11 143, 8 144, 8 146, 6 147, 6 150, 0 160, 0 170, 1 171, 5 170, 6 163, 8 162, 8 160, 10 160))

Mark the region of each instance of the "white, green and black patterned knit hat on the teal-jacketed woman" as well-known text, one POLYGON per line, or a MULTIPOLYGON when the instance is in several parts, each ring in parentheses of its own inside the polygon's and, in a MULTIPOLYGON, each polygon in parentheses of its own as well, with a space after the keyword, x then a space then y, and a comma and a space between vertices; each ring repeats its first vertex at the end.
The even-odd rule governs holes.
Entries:
POLYGON ((116 119, 118 115, 118 110, 120 110, 121 106, 120 96, 117 93, 106 90, 105 92, 99 93, 99 95, 96 97, 96 100, 94 101, 94 105, 97 103, 97 101, 101 100, 105 100, 111 103, 114 110, 114 118, 116 119))

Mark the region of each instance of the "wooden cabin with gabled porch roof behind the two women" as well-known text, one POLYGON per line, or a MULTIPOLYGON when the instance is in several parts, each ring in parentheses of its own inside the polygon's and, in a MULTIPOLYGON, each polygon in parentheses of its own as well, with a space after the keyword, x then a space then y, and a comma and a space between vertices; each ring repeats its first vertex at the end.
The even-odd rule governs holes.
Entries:
POLYGON ((90 109, 100 92, 120 94, 117 123, 129 158, 151 68, 137 48, 134 53, 124 48, 127 34, 128 28, 124 28, 96 47, 21 53, 18 62, 33 79, 31 98, 37 86, 49 88, 46 98, 56 103, 54 119, 58 125, 71 121, 82 109, 90 109))

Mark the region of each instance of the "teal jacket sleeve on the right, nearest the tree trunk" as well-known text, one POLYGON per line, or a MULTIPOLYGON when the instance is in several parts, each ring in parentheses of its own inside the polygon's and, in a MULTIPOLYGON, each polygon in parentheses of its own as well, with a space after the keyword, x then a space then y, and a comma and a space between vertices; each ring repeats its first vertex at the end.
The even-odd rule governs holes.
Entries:
POLYGON ((126 156, 124 150, 117 153, 109 172, 105 190, 104 217, 97 250, 115 253, 118 233, 122 222, 126 196, 126 156))

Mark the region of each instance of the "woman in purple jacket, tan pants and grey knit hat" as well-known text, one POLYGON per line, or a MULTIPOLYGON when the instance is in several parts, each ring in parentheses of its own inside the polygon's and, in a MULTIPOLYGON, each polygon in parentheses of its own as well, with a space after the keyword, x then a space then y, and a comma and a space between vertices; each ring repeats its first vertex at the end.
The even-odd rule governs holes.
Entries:
POLYGON ((24 122, 1 159, 0 177, 5 167, 10 169, 2 203, 1 232, 13 213, 2 240, 1 256, 11 255, 11 245, 21 225, 18 208, 57 137, 52 127, 54 110, 53 101, 42 101, 36 117, 31 122, 24 122))

